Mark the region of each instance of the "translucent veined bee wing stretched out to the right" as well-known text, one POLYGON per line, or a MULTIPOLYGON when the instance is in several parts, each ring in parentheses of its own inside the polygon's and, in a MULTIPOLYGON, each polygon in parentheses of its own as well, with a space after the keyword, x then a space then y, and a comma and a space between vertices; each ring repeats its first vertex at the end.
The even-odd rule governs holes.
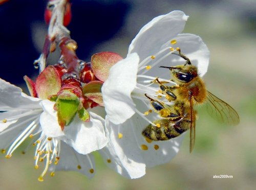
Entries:
POLYGON ((229 125, 239 124, 238 113, 226 102, 207 91, 207 111, 210 116, 229 125))

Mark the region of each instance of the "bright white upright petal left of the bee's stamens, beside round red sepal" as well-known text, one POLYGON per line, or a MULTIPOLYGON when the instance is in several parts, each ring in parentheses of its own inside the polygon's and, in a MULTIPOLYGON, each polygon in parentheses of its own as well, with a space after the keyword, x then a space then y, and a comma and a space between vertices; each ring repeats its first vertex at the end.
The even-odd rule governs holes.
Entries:
POLYGON ((135 113, 131 93, 136 86, 139 57, 132 53, 110 69, 110 75, 102 86, 106 113, 111 122, 123 123, 135 113))

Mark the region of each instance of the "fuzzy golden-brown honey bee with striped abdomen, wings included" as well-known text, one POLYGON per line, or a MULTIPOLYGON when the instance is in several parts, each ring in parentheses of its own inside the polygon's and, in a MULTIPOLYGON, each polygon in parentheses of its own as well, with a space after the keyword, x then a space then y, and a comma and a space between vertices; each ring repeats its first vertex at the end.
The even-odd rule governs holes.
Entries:
POLYGON ((145 94, 161 119, 154 121, 154 125, 148 125, 142 131, 142 135, 153 141, 165 141, 178 137, 190 129, 189 152, 191 152, 195 145, 197 119, 194 105, 206 103, 207 111, 211 116, 229 125, 239 124, 239 116, 229 104, 206 90, 202 78, 198 75, 197 67, 192 65, 186 56, 180 51, 174 54, 183 58, 186 61, 185 64, 160 67, 170 70, 173 76, 172 81, 177 85, 166 86, 164 85, 166 82, 160 82, 158 78, 153 81, 159 84, 167 101, 174 102, 174 104, 168 105, 145 94))

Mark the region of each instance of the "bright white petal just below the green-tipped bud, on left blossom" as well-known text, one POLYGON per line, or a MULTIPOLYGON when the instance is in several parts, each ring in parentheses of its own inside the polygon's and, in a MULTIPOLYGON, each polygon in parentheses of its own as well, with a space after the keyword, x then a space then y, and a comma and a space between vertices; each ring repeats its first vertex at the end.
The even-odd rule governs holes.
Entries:
POLYGON ((90 122, 83 122, 78 116, 65 127, 62 140, 80 154, 88 154, 106 146, 108 139, 104 132, 104 120, 90 112, 90 122))

